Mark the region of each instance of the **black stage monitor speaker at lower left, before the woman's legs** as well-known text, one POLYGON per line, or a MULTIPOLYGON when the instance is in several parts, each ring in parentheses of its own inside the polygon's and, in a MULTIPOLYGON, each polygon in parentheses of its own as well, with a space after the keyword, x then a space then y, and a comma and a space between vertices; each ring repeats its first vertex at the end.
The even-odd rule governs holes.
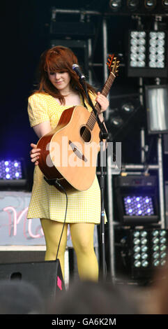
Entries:
POLYGON ((59 260, 0 264, 0 280, 23 280, 38 288, 45 298, 54 300, 65 290, 59 260))

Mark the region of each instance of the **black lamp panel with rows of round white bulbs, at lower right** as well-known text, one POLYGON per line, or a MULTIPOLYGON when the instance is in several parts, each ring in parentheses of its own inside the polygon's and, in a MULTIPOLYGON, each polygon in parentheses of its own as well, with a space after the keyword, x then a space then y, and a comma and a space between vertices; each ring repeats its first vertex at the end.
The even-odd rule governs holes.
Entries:
POLYGON ((168 230, 155 228, 114 229, 116 274, 130 279, 152 279, 167 260, 168 230))

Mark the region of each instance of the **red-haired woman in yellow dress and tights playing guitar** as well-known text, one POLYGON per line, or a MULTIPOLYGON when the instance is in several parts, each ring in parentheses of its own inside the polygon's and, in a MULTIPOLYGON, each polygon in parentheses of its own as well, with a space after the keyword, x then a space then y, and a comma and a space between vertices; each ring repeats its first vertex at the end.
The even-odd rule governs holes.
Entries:
MULTIPOLYGON (((63 46, 45 51, 40 58, 40 85, 29 97, 28 104, 30 124, 39 138, 56 127, 65 109, 85 104, 89 111, 92 110, 77 73, 72 70, 72 64, 78 64, 77 57, 72 50, 63 46)), ((92 102, 98 102, 101 106, 98 116, 102 122, 102 112, 107 109, 109 102, 100 92, 96 95, 91 85, 86 85, 92 102)), ((31 147, 31 161, 35 162, 36 167, 27 218, 40 218, 46 241, 45 260, 55 260, 66 211, 66 197, 43 179, 38 167, 40 149, 35 144, 31 144, 31 147)), ((98 261, 93 248, 94 225, 98 223, 100 188, 96 177, 88 190, 68 195, 66 225, 58 254, 63 275, 69 224, 79 277, 98 281, 98 261)))

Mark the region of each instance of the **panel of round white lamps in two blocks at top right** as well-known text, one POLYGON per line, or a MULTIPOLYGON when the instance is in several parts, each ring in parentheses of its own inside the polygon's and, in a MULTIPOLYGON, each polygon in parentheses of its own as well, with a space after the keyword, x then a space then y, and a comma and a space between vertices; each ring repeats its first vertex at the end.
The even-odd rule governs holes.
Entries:
POLYGON ((128 76, 167 78, 167 31, 128 32, 128 76))

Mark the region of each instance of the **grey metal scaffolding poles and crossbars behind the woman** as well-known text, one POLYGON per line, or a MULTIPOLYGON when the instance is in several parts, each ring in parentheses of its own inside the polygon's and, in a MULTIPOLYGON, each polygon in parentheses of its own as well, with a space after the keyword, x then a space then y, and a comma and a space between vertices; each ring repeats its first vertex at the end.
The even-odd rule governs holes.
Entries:
MULTIPOLYGON (((107 80, 108 72, 107 72, 107 43, 108 43, 108 29, 107 29, 107 17, 111 15, 110 13, 100 13, 95 10, 66 10, 66 9, 57 9, 52 8, 52 20, 56 20, 57 13, 66 13, 72 15, 81 15, 82 18, 84 16, 94 16, 94 15, 102 15, 102 49, 103 49, 103 58, 102 63, 100 65, 103 66, 103 80, 104 83, 107 80)), ((88 55, 89 59, 91 59, 92 54, 92 42, 91 38, 88 38, 88 55)), ((98 66, 98 64, 96 64, 98 66)), ((93 62, 89 62, 89 83, 92 83, 92 72, 91 66, 94 66, 93 62)), ((140 89, 143 88, 143 80, 139 78, 140 89)), ((139 100, 141 104, 143 104, 142 92, 139 89, 139 100)), ((105 114, 106 120, 109 119, 109 109, 107 109, 105 114)), ((130 173, 132 172, 144 172, 146 165, 144 165, 144 146, 145 146, 145 134, 144 130, 140 132, 141 134, 141 148, 142 148, 142 156, 141 163, 139 165, 128 164, 123 165, 124 171, 130 173)), ((163 168, 162 168, 162 136, 158 135, 158 163, 156 165, 148 164, 148 171, 157 171, 158 172, 158 182, 159 182, 159 202, 160 202, 160 222, 159 225, 161 228, 165 228, 165 193, 164 193, 164 183, 163 183, 163 168)), ((115 265, 114 265, 114 228, 116 225, 116 221, 114 218, 114 188, 113 188, 113 171, 114 164, 112 163, 112 157, 107 161, 107 195, 108 195, 108 225, 109 225, 109 263, 110 263, 110 274, 112 276, 112 281, 116 279, 115 273, 115 265)))

